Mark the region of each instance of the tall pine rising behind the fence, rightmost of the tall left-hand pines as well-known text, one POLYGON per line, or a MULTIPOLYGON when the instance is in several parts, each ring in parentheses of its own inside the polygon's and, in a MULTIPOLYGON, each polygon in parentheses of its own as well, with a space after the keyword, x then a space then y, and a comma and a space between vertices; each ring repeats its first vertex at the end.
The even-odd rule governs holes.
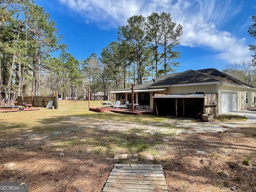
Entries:
POLYGON ((33 66, 32 92, 39 94, 40 74, 44 68, 42 64, 50 54, 63 48, 61 44, 62 36, 58 36, 58 30, 53 20, 50 20, 50 14, 45 12, 44 8, 31 4, 29 6, 29 34, 32 37, 33 51, 30 52, 33 66))

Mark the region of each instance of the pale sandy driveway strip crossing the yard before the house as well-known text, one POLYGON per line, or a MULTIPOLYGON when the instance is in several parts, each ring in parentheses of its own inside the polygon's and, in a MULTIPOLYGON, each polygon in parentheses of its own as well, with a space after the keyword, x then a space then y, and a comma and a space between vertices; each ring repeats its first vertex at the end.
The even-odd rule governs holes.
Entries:
POLYGON ((99 130, 117 130, 117 131, 129 131, 129 130, 140 130, 141 132, 147 132, 150 134, 164 133, 164 134, 194 134, 203 132, 224 132, 228 129, 242 129, 248 127, 254 127, 255 121, 247 120, 246 122, 236 121, 233 119, 229 122, 220 122, 214 120, 212 122, 202 122, 202 120, 195 120, 193 118, 169 118, 160 123, 148 122, 146 125, 134 124, 132 122, 122 123, 113 122, 112 120, 92 120, 86 118, 68 118, 67 123, 74 122, 80 124, 77 129, 86 128, 97 128, 99 130), (90 124, 88 125, 88 122, 90 124))

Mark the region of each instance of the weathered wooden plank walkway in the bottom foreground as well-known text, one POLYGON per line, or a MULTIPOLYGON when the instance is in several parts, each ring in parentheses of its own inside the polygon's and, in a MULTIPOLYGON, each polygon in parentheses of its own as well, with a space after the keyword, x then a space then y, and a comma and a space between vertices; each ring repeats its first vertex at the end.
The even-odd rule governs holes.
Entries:
POLYGON ((162 165, 115 164, 103 192, 167 192, 162 165))

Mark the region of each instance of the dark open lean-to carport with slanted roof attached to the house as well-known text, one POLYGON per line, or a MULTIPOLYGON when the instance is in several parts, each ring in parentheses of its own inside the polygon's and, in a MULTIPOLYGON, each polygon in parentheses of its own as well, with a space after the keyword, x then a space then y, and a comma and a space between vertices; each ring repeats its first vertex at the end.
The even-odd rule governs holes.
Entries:
POLYGON ((156 115, 196 117, 204 112, 204 94, 154 96, 156 115))

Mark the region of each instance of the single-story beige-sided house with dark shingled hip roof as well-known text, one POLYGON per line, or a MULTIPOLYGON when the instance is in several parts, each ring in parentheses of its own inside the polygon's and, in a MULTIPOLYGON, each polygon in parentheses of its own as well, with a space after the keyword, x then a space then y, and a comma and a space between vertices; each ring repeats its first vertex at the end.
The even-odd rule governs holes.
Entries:
MULTIPOLYGON (((132 100, 131 89, 113 90, 116 100, 132 100)), ((157 115, 215 116, 255 107, 256 87, 216 69, 164 74, 134 86, 134 103, 157 115)))

